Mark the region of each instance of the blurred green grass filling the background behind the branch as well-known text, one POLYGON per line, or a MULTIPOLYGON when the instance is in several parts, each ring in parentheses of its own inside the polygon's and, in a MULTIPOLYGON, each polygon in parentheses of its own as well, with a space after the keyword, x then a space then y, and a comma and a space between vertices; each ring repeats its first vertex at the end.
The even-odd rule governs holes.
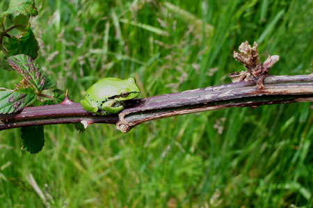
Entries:
MULTIPOLYGON (((75 102, 100 77, 136 77, 142 97, 229 83, 246 40, 262 61, 280 55, 271 74, 312 73, 312 0, 36 3, 37 61, 75 102)), ((19 79, 0 71, 1 87, 19 79)), ((182 115, 128 134, 53 125, 35 155, 20 150, 18 129, 0 131, 0 207, 312 207, 312 123, 303 103, 182 115)))

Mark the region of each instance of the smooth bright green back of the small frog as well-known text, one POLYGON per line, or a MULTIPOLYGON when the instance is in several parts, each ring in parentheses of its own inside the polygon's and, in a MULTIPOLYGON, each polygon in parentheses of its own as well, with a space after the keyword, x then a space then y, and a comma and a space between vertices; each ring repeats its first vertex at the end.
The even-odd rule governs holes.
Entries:
POLYGON ((116 89, 120 86, 122 79, 106 77, 97 81, 87 90, 87 95, 95 101, 116 95, 116 89))

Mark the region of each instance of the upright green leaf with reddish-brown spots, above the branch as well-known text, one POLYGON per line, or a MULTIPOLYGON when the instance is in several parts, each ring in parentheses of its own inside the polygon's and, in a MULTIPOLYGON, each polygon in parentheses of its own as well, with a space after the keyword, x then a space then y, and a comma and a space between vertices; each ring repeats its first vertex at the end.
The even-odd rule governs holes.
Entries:
POLYGON ((45 86, 45 75, 31 57, 24 54, 10 56, 8 62, 15 71, 21 74, 33 87, 35 93, 40 93, 45 86))

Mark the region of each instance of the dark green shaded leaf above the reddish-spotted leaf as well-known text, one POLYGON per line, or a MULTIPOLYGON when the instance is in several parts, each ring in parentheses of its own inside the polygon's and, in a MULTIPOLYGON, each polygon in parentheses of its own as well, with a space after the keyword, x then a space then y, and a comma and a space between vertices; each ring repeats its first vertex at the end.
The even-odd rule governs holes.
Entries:
POLYGON ((35 59, 38 56, 39 45, 38 41, 31 31, 31 28, 28 27, 26 32, 22 34, 21 38, 9 38, 8 42, 5 42, 4 45, 8 50, 8 56, 15 56, 17 54, 25 54, 31 56, 35 59))

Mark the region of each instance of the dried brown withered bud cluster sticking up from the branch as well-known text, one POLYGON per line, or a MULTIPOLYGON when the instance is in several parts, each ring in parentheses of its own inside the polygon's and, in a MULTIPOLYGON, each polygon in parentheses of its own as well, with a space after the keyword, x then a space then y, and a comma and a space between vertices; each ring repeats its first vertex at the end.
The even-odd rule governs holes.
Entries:
POLYGON ((268 75, 268 70, 279 61, 280 56, 268 56, 264 63, 259 61, 259 52, 257 51, 257 42, 254 42, 253 47, 249 42, 243 42, 239 46, 239 52, 234 51, 234 58, 241 62, 247 71, 233 72, 228 74, 232 82, 250 81, 257 83, 257 89, 264 89, 263 81, 268 75))

